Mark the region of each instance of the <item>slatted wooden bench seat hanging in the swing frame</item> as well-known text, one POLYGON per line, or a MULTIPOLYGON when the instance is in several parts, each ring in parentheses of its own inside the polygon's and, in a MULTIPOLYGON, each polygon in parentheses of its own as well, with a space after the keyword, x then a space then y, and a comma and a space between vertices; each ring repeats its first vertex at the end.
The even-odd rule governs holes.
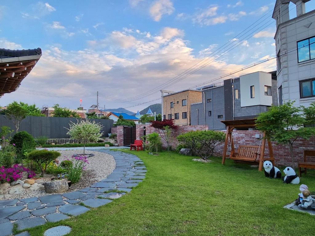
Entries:
POLYGON ((257 162, 259 146, 240 145, 237 152, 231 152, 230 159, 235 161, 257 162))

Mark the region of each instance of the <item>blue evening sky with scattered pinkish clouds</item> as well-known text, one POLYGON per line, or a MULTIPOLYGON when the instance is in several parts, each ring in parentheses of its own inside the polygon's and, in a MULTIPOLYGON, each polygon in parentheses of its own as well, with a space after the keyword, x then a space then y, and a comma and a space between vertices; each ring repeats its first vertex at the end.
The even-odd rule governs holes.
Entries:
MULTIPOLYGON (((82 106, 89 108, 96 104, 98 91, 100 107, 136 112, 160 103, 161 89, 180 91, 254 71, 270 72, 276 69, 275 60, 211 82, 275 56, 274 4, 2 1, 0 48, 41 48, 42 57, 16 92, 0 98, 0 105, 16 100, 40 108, 77 108, 82 99, 82 106)), ((314 1, 306 3, 306 11, 314 8, 314 1)), ((295 17, 295 5, 289 9, 290 18, 295 17)))

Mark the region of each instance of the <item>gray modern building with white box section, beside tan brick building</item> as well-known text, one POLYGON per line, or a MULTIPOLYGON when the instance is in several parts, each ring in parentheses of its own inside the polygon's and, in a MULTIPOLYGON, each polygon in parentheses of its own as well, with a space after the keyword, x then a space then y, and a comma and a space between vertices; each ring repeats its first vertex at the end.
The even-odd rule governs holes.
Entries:
POLYGON ((202 102, 191 104, 191 124, 225 129, 223 120, 250 119, 278 105, 276 71, 254 72, 200 89, 202 102))

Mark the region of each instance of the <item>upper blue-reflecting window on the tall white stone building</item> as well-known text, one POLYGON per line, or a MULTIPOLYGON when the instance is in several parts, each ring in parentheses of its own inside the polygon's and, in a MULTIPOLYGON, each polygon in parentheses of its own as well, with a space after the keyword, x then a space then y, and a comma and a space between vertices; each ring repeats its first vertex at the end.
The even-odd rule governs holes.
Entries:
POLYGON ((315 59, 315 37, 297 42, 298 62, 315 59))

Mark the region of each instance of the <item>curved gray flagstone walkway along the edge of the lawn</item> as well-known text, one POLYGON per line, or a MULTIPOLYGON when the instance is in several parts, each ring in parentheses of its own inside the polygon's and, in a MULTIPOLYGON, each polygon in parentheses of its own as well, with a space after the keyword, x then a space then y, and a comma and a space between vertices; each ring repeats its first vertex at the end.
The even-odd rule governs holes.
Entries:
MULTIPOLYGON (((108 149, 97 151, 112 155, 116 161, 116 169, 106 179, 75 192, 0 201, 0 236, 11 235, 14 224, 18 230, 24 230, 47 221, 57 222, 77 216, 90 208, 110 203, 130 192, 145 178, 146 167, 136 155, 108 149)), ((18 235, 29 234, 23 232, 18 235)))

